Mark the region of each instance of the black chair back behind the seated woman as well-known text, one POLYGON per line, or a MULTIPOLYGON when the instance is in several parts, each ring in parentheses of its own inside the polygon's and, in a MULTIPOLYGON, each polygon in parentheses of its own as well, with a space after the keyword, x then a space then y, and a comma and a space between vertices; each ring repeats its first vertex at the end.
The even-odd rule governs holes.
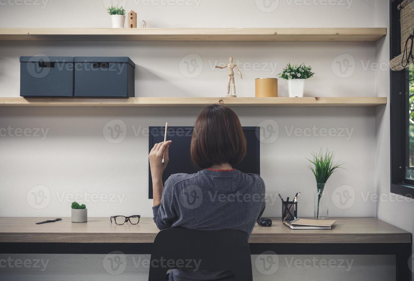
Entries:
MULTIPOLYGON (((236 280, 253 281, 249 244, 246 236, 238 230, 162 230, 156 235, 152 247, 149 281, 165 281, 169 269, 183 268, 181 264, 179 267, 177 264, 162 267, 161 259, 164 264, 166 260, 196 260, 200 262, 198 269, 231 270, 236 280)), ((194 263, 188 265, 184 262, 184 265, 184 269, 197 268, 194 263)))

